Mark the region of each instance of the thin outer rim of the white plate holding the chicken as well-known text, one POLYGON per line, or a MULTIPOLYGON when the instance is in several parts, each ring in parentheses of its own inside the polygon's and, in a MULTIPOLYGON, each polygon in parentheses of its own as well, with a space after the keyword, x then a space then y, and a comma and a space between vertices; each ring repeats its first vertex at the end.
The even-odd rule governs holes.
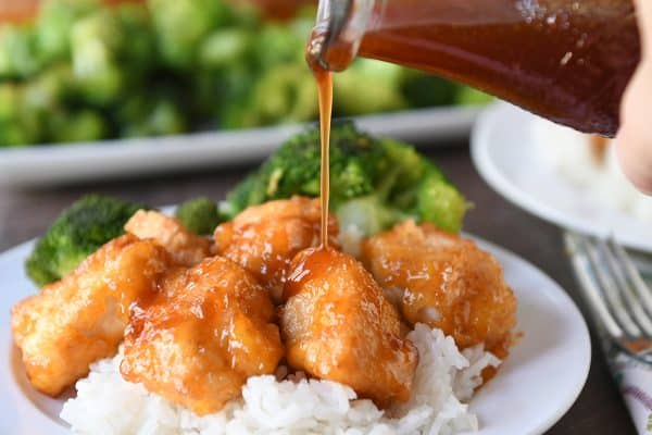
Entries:
MULTIPOLYGON (((575 301, 570 298, 570 296, 567 294, 567 291, 556 281, 554 281, 551 276, 549 276, 546 272, 543 272, 537 265, 532 264, 527 259, 518 256, 517 253, 515 253, 506 248, 503 248, 502 246, 497 245, 492 241, 489 241, 487 239, 477 237, 477 236, 475 236, 473 234, 468 234, 468 233, 464 233, 463 235, 465 237, 472 238, 474 241, 476 241, 481 249, 489 250, 492 254, 496 254, 497 257, 501 257, 504 259, 509 259, 510 261, 517 262, 519 264, 519 269, 523 271, 526 271, 527 275, 537 276, 537 279, 543 279, 547 283, 546 291, 548 293, 548 295, 553 300, 562 301, 562 303, 564 306, 566 306, 567 309, 570 310, 569 312, 573 313, 572 314, 573 321, 577 322, 577 326, 579 326, 579 330, 577 332, 584 337, 582 349, 580 350, 580 353, 582 356, 582 359, 581 359, 582 365, 578 369, 579 374, 577 375, 577 380, 574 383, 574 388, 566 391, 565 400, 561 401, 555 407, 554 413, 551 412, 546 419, 543 419, 539 423, 538 426, 532 427, 530 430, 530 432, 528 432, 528 434, 531 434, 531 435, 543 434, 546 431, 548 431, 550 427, 552 427, 556 422, 559 422, 568 412, 568 410, 577 401, 577 398, 579 397, 580 393, 582 391, 582 389, 587 383, 590 366, 591 366, 591 358, 592 358, 591 336, 589 333, 587 322, 586 322, 584 315, 581 314, 581 311, 579 310, 579 308, 577 307, 575 301)), ((13 248, 10 248, 3 252, 0 252, 0 262, 5 257, 12 256, 12 254, 17 254, 22 250, 28 250, 29 246, 32 246, 34 243, 35 243, 35 239, 32 239, 32 240, 25 241, 23 244, 20 244, 17 246, 14 246, 13 248)), ((7 330, 8 330, 7 331, 8 333, 11 332, 10 327, 7 330)), ((8 344, 10 347, 14 346, 13 341, 11 339, 11 336, 9 337, 8 344)), ((8 355, 11 356, 11 351, 8 352, 8 355)), ((10 376, 8 378, 8 382, 10 382, 9 388, 14 389, 14 390, 16 390, 16 389, 20 390, 21 387, 17 384, 15 384, 14 381, 12 381, 13 380, 12 369, 8 368, 7 364, 1 364, 0 375, 2 375, 4 373, 8 373, 10 376)), ((0 382, 2 382, 2 376, 0 376, 0 382)), ((43 414, 42 411, 39 410, 38 406, 35 402, 33 402, 29 398, 25 397, 23 394, 21 394, 20 397, 22 398, 21 401, 23 402, 23 408, 25 408, 25 406, 27 406, 33 412, 36 412, 38 414, 38 419, 35 422, 36 424, 39 424, 39 426, 37 428, 45 428, 48 431, 48 433, 52 433, 52 434, 68 433, 67 428, 65 428, 64 426, 52 421, 49 415, 43 414), (48 425, 47 425, 47 427, 41 427, 40 426, 41 424, 48 424, 48 425)), ((27 427, 27 428, 29 428, 29 427, 27 427)), ((480 426, 480 432, 478 432, 478 434, 482 435, 481 426, 480 426)))

